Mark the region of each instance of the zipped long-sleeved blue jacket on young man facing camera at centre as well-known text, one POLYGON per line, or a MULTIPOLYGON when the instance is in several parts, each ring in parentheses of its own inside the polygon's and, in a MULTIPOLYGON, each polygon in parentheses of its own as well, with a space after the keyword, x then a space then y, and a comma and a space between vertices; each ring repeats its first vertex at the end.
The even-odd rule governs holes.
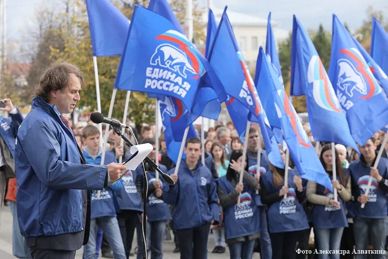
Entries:
MULTIPOLYGON (((185 229, 200 226, 211 220, 219 221, 217 185, 210 170, 198 162, 197 168, 189 170, 182 160, 178 171, 178 182, 163 190, 163 200, 175 205, 174 228, 185 229)), ((171 169, 169 174, 174 173, 171 169)))

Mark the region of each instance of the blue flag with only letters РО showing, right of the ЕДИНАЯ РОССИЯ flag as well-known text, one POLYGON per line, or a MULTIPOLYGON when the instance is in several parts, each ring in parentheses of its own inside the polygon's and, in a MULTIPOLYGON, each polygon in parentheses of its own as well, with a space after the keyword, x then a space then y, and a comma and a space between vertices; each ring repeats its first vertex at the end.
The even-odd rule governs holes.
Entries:
MULTIPOLYGON (((229 99, 226 102, 226 106, 234 102, 240 102, 240 104, 234 104, 239 105, 236 107, 241 108, 240 111, 236 110, 236 112, 240 113, 240 116, 233 117, 234 124, 239 126, 246 125, 247 120, 258 122, 269 160, 275 166, 283 167, 278 147, 272 148, 274 146, 271 142, 273 136, 267 130, 269 129, 268 119, 261 106, 256 86, 242 57, 242 52, 236 42, 233 29, 226 15, 226 8, 212 43, 209 62, 228 95, 229 99)), ((273 139, 275 140, 275 138, 273 139)))

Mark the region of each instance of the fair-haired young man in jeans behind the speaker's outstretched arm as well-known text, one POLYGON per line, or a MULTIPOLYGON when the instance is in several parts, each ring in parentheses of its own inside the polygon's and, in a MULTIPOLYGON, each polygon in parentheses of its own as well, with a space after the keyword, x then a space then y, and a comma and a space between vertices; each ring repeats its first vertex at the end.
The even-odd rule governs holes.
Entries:
MULTIPOLYGON (((100 148, 100 132, 93 125, 87 125, 82 130, 82 140, 85 146, 82 148, 83 156, 86 163, 99 165, 101 164, 102 149, 100 148)), ((105 154, 104 164, 115 162, 116 158, 112 152, 105 154)), ((97 190, 91 191, 92 211, 90 221, 89 242, 83 248, 84 259, 96 258, 97 251, 101 247, 101 241, 97 241, 97 228, 104 232, 110 247, 112 248, 114 258, 126 259, 123 240, 118 227, 116 210, 113 205, 113 192, 111 190, 118 186, 119 183, 111 185, 109 188, 103 188, 98 195, 97 190)))

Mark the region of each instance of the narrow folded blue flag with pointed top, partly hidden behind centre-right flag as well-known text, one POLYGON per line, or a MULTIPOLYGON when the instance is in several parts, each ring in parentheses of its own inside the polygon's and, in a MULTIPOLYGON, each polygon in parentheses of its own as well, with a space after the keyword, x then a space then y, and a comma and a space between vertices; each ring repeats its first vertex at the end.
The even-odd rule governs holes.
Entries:
MULTIPOLYGON (((272 68, 274 69, 274 71, 277 75, 277 78, 280 82, 280 85, 284 88, 282 71, 280 70, 279 55, 277 54, 277 50, 276 50, 275 35, 274 35, 274 32, 272 30, 272 25, 271 25, 271 12, 268 15, 267 38, 265 41, 265 53, 267 54, 268 60, 272 64, 272 68)), ((256 77, 257 76, 255 75, 255 83, 258 82, 258 79, 256 77)), ((266 112, 267 113, 270 113, 270 112, 276 113, 275 110, 266 111, 266 112)), ((268 118, 270 118, 270 116, 268 116, 268 118)), ((280 144, 283 144, 283 135, 281 132, 280 124, 277 121, 270 120, 270 125, 272 126, 272 130, 275 134, 275 138, 276 138, 277 142, 280 144)))

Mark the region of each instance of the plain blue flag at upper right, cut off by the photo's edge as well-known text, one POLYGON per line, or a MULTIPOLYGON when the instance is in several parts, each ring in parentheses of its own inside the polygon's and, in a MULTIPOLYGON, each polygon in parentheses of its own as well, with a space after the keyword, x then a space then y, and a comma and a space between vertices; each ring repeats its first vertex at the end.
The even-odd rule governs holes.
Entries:
POLYGON ((374 17, 372 21, 371 56, 380 68, 388 74, 388 33, 374 17))

